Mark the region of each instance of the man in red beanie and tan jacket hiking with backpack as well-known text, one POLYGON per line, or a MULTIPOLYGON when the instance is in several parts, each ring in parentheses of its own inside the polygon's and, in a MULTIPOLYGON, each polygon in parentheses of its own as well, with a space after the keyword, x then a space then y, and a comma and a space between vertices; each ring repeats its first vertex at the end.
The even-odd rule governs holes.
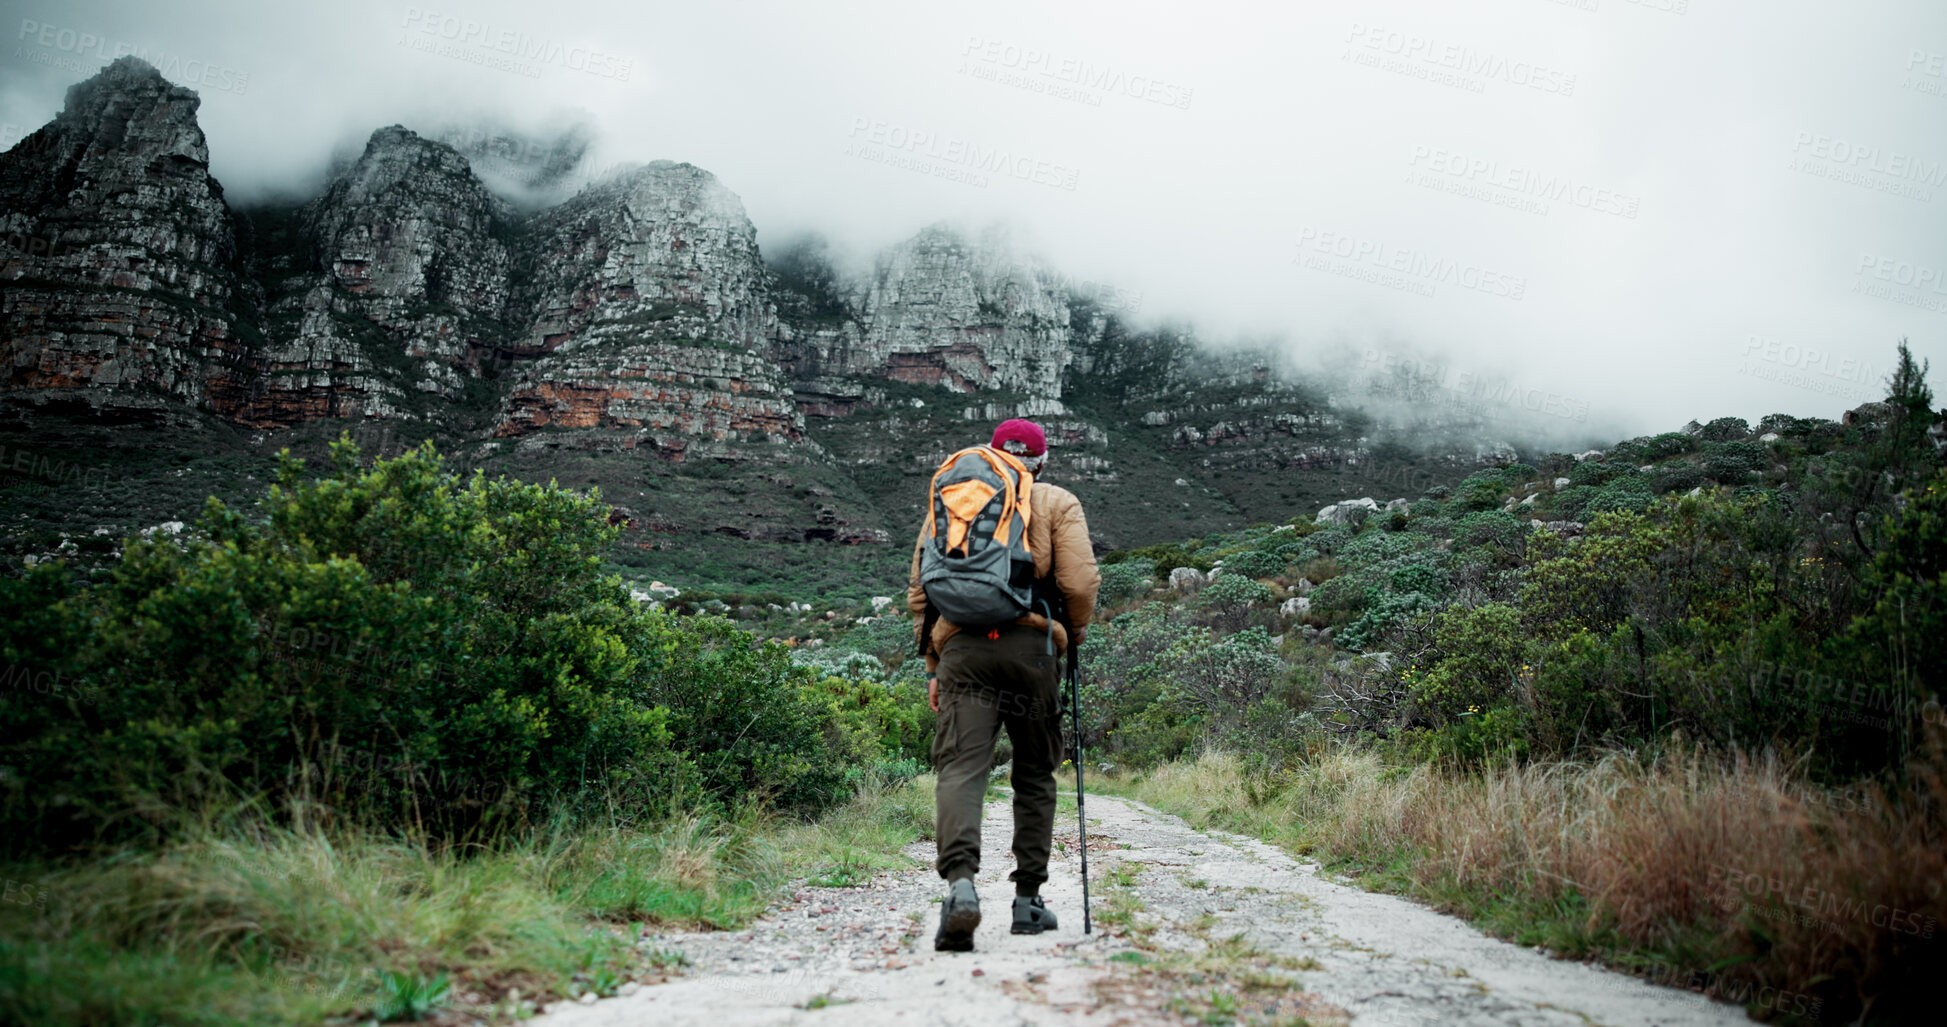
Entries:
POLYGON ((935 836, 948 883, 938 951, 974 951, 981 801, 1003 727, 1014 748, 1012 932, 1055 928, 1040 889, 1063 752, 1059 663, 1083 641, 1102 575, 1081 501, 1034 481, 1046 460, 1047 437, 1018 419, 995 429, 991 444, 950 456, 933 477, 913 550, 905 602, 917 614, 927 700, 938 713, 935 836))

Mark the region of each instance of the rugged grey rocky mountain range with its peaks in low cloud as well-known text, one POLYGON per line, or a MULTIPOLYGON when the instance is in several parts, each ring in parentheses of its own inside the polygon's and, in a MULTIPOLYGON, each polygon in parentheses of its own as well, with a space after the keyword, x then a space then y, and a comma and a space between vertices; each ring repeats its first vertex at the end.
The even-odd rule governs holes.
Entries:
POLYGON ((1375 462, 1425 468, 1425 487, 1513 456, 1466 417, 1417 425, 1447 437, 1427 444, 1273 353, 1131 323, 1001 230, 929 226, 861 273, 818 240, 765 253, 689 164, 514 207, 452 144, 393 125, 310 203, 232 210, 197 95, 138 58, 0 154, 0 201, 16 438, 117 448, 113 427, 142 421, 195 460, 218 440, 430 437, 602 485, 627 524, 617 561, 644 573, 750 581, 866 546, 896 575, 903 546, 876 544, 907 536, 925 475, 1014 415, 1049 429, 1049 474, 1104 546, 1378 495, 1375 462))

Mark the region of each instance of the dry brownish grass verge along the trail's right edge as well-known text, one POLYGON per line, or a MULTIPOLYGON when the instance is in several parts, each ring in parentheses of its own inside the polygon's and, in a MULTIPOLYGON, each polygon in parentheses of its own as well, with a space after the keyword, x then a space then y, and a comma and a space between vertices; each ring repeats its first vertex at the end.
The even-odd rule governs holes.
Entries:
POLYGON ((1947 955, 1947 787, 1920 780, 1838 797, 1776 762, 1451 774, 1336 750, 1277 780, 1205 756, 1090 785, 1754 1013, 1900 1023, 1947 955))

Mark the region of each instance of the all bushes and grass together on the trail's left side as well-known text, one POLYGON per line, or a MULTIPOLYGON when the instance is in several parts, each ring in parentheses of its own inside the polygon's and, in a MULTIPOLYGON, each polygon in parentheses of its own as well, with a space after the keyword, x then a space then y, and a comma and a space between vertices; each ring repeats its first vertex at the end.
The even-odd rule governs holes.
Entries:
POLYGON ((900 861, 923 696, 637 602, 606 513, 343 440, 0 579, 0 1021, 518 1015, 900 861))

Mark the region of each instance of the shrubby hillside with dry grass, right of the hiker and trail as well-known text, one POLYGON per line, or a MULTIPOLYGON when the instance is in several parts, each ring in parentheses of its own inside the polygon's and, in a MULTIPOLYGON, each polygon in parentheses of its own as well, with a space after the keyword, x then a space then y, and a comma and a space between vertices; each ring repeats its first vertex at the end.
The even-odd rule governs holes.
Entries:
POLYGON ((1717 419, 1112 553, 1090 750, 1561 953, 1900 1021, 1947 955, 1937 425, 1902 345, 1846 423, 1717 419))

